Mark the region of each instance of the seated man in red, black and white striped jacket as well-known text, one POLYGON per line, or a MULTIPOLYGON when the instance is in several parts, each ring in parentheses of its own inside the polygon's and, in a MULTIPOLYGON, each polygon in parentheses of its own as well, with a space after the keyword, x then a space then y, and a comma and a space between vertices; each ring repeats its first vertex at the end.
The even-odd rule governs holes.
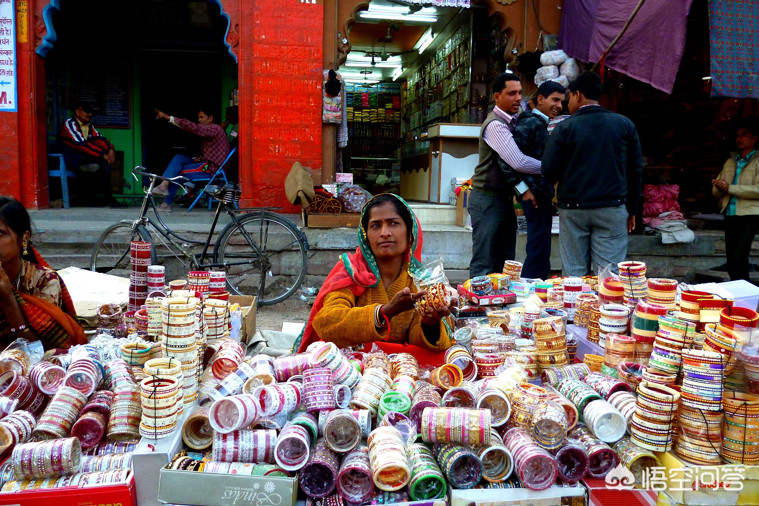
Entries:
POLYGON ((59 140, 63 147, 66 169, 77 175, 80 188, 91 182, 95 194, 111 207, 127 207, 111 194, 111 163, 116 159, 113 144, 90 123, 92 109, 87 104, 74 106, 74 117, 61 126, 59 140), (87 181, 89 180, 89 181, 87 181))

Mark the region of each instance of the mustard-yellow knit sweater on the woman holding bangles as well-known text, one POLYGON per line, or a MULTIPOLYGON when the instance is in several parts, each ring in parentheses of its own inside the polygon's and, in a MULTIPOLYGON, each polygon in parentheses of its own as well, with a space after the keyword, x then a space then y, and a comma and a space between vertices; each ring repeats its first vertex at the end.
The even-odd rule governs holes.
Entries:
POLYGON ((439 324, 438 339, 430 342, 424 335, 421 318, 415 309, 390 318, 389 337, 377 332, 374 326, 374 308, 390 302, 390 299, 406 286, 411 289, 411 293, 419 291, 414 286, 414 280, 408 275, 408 264, 404 263, 401 275, 388 286, 388 289, 385 289, 382 280, 379 280, 379 286, 367 288, 358 297, 348 288, 328 293, 324 297, 323 308, 313 317, 313 330, 316 330, 320 339, 331 341, 339 348, 370 341, 386 341, 414 344, 433 351, 449 349, 451 340, 442 321, 439 324))

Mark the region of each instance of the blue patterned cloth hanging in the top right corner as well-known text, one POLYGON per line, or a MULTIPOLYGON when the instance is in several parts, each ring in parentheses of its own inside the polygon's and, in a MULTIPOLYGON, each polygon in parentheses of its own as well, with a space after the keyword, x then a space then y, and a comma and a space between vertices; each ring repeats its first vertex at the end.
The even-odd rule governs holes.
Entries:
POLYGON ((712 96, 759 98, 759 0, 711 0, 712 96))

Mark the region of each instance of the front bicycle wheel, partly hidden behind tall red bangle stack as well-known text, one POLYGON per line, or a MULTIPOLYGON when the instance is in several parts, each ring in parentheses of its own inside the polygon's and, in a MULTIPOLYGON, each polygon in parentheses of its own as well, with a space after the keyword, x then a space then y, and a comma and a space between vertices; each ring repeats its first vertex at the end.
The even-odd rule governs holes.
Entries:
POLYGON ((142 225, 132 232, 132 223, 114 223, 102 232, 93 248, 90 270, 118 277, 129 277, 129 245, 132 241, 150 242, 150 260, 156 263, 156 246, 142 225))

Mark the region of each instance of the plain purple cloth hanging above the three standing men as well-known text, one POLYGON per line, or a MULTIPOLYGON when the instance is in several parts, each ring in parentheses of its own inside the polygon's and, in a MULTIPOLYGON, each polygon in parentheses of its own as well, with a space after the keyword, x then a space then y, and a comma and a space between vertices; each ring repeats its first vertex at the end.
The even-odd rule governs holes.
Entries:
MULTIPOLYGON (((693 0, 646 0, 606 56, 606 66, 672 93, 685 49, 685 23, 693 0)), ((597 62, 622 31, 638 0, 567 0, 559 43, 568 55, 597 62), (592 22, 590 21, 592 20, 592 22), (579 23, 580 31, 573 33, 579 23)))

